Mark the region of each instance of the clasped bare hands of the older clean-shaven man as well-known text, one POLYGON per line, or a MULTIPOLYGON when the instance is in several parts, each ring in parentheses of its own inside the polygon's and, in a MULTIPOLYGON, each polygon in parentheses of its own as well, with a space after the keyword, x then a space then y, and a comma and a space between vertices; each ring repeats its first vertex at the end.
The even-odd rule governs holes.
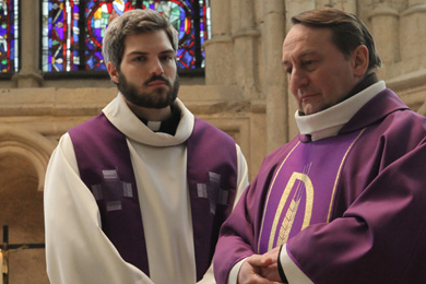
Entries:
MULTIPOLYGON (((253 255, 249 257, 241 265, 238 273, 238 284, 277 284, 281 283, 280 275, 275 279, 268 279, 267 276, 272 273, 273 269, 269 269, 270 265, 273 265, 271 257, 265 257, 265 255, 253 255), (265 276, 267 275, 267 276, 265 276)), ((275 261, 276 268, 276 261, 275 261)), ((276 269, 277 273, 277 269, 276 269)))

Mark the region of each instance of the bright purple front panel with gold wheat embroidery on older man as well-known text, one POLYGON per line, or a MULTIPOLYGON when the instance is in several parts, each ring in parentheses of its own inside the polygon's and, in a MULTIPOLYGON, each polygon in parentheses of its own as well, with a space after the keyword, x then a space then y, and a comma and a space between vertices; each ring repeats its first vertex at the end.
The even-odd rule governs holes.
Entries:
POLYGON ((259 253, 286 244, 310 224, 329 221, 342 165, 360 132, 299 142, 289 151, 268 192, 259 253))

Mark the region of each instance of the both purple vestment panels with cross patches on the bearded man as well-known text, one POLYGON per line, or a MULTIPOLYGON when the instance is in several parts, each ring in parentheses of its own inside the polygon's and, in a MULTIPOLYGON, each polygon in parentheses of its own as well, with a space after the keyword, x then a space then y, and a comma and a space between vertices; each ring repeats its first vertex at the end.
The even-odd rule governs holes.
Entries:
MULTIPOLYGON (((71 129, 80 176, 100 212, 102 229, 120 256, 150 275, 138 189, 127 139, 104 114, 71 129)), ((211 264, 218 228, 229 215, 237 187, 235 141, 196 118, 187 141, 197 281, 211 264)))

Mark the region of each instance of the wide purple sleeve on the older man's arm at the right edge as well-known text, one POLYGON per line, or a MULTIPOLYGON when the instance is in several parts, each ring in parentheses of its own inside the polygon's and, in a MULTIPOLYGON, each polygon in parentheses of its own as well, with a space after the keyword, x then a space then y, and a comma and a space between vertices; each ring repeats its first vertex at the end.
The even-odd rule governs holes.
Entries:
POLYGON ((390 156, 400 150, 383 143, 386 166, 343 215, 288 240, 291 258, 315 283, 426 283, 425 140, 398 158, 390 156))

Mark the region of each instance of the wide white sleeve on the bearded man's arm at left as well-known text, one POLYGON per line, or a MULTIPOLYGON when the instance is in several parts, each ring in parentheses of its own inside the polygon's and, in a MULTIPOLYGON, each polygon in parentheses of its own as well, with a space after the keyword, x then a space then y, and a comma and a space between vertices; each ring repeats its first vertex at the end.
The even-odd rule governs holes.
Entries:
POLYGON ((54 151, 46 173, 46 262, 52 284, 153 284, 127 263, 100 228, 95 199, 80 179, 69 134, 54 151))

